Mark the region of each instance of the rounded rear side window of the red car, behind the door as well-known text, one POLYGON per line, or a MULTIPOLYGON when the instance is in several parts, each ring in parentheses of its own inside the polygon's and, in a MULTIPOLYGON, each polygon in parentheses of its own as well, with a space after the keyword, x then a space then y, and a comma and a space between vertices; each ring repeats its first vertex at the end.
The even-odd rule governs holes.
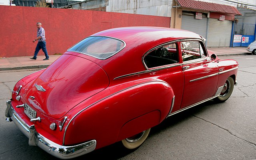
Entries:
POLYGON ((144 63, 148 68, 178 63, 177 45, 168 44, 152 50, 144 57, 144 63))

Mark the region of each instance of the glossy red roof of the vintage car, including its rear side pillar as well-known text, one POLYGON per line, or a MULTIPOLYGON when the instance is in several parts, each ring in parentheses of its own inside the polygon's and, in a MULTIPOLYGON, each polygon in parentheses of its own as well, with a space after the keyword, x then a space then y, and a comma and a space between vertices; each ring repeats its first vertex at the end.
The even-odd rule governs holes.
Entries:
POLYGON ((108 74, 110 81, 126 74, 145 71, 142 57, 150 49, 172 42, 174 40, 202 38, 190 31, 162 27, 122 27, 104 30, 92 36, 107 36, 117 38, 126 43, 126 46, 117 54, 106 60, 99 60, 86 56, 87 59, 102 67, 108 74))

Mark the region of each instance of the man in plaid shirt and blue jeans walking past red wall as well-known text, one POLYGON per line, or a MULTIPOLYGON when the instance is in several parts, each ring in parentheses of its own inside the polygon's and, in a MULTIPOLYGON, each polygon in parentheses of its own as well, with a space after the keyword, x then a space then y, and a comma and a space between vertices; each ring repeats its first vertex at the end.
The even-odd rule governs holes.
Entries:
POLYGON ((44 28, 42 28, 42 24, 40 22, 38 22, 36 24, 37 26, 37 35, 36 35, 36 39, 33 40, 33 43, 36 42, 38 40, 38 43, 36 45, 36 50, 35 50, 35 53, 34 53, 34 57, 30 58, 32 60, 36 60, 36 56, 39 52, 40 49, 43 50, 44 54, 45 54, 45 57, 43 60, 49 60, 49 56, 48 56, 48 53, 47 53, 47 50, 46 50, 46 38, 45 38, 45 31, 44 31, 44 28))

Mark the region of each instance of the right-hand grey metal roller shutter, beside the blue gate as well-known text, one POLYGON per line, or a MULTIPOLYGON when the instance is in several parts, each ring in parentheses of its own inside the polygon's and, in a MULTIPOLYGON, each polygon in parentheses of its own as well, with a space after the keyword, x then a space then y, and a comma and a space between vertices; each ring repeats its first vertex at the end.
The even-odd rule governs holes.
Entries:
POLYGON ((207 47, 229 47, 232 32, 232 21, 210 18, 207 47))

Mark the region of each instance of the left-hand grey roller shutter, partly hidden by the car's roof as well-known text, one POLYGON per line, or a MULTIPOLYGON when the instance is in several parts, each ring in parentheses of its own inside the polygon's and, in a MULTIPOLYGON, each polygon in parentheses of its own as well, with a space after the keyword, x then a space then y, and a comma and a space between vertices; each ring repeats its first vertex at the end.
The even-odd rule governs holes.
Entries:
POLYGON ((204 38, 207 34, 207 17, 202 16, 202 19, 196 19, 194 14, 191 13, 182 13, 182 20, 181 20, 181 29, 182 30, 189 30, 200 34, 204 38))

